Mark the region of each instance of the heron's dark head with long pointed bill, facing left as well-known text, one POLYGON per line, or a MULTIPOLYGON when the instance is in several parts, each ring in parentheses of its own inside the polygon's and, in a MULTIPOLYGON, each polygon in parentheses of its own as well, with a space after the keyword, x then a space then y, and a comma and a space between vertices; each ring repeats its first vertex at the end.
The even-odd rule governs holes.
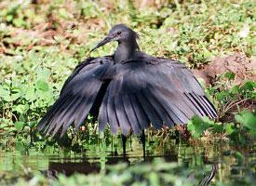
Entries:
POLYGON ((138 33, 132 31, 125 24, 117 24, 110 30, 107 36, 90 51, 94 51, 98 47, 104 46, 111 41, 117 41, 118 43, 132 42, 136 41, 136 38, 139 38, 138 33))

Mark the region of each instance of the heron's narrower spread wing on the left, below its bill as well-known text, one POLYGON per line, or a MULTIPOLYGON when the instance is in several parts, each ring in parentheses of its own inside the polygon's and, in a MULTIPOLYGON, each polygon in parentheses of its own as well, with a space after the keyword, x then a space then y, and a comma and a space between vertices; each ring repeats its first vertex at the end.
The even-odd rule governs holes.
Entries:
POLYGON ((111 78, 113 59, 103 57, 88 59, 80 63, 66 80, 60 98, 53 104, 38 124, 38 129, 61 136, 74 123, 77 129, 88 115, 103 84, 104 78, 111 78))

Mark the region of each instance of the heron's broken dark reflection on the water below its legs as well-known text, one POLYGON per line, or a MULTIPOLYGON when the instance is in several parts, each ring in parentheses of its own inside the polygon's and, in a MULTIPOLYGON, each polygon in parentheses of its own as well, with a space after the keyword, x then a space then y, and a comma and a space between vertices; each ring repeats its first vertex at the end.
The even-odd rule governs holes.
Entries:
MULTIPOLYGON (((139 159, 141 157, 132 156, 113 156, 107 157, 105 165, 117 165, 119 163, 126 163, 128 166, 134 165, 132 159, 139 159)), ((166 162, 178 162, 178 155, 166 155, 166 156, 145 156, 141 159, 141 163, 152 162, 155 158, 164 158, 166 162)), ((101 171, 101 159, 100 158, 82 158, 79 161, 77 159, 52 159, 49 160, 48 169, 45 172, 47 178, 58 178, 58 174, 64 174, 66 176, 72 176, 74 173, 91 174, 99 173, 101 171)), ((188 168, 188 166, 186 166, 188 168)), ((184 167, 185 168, 185 167, 184 167)), ((211 165, 211 171, 209 174, 202 174, 199 181, 200 185, 209 185, 211 179, 216 175, 218 168, 216 164, 211 165)), ((195 173, 188 175, 187 179, 195 179, 195 173)))

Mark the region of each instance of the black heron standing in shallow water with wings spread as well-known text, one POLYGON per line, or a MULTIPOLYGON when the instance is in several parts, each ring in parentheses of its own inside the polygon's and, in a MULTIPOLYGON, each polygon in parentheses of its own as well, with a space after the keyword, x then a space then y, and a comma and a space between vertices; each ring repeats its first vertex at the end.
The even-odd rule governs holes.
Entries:
POLYGON ((115 54, 78 64, 38 129, 63 136, 72 124, 77 130, 90 113, 98 118, 100 131, 107 124, 113 134, 120 128, 123 144, 129 132, 141 134, 144 150, 144 129, 151 125, 156 129, 185 125, 195 114, 217 117, 184 64, 142 52, 137 38, 138 33, 126 25, 115 25, 92 49, 117 41, 115 54))

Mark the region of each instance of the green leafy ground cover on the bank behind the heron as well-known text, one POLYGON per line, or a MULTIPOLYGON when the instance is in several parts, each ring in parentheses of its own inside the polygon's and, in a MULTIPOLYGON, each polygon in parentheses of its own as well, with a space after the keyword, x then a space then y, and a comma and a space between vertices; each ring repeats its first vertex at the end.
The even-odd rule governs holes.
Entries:
MULTIPOLYGON (((181 60, 192 69, 206 70, 203 78, 211 77, 209 82, 205 78, 205 88, 220 118, 192 119, 188 130, 194 140, 228 140, 238 150, 255 149, 254 1, 4 0, 0 9, 1 148, 57 145, 54 139, 43 139, 36 124, 79 61, 115 50, 112 44, 88 54, 111 26, 123 22, 140 33, 145 52, 181 60), (249 65, 239 66, 242 60, 234 56, 242 56, 249 65), (223 61, 227 68, 222 62, 208 68, 212 61, 223 61), (230 68, 234 65, 235 70, 230 68)), ((78 136, 70 130, 59 145, 75 151, 85 143, 97 143, 103 137, 89 121, 78 136)), ((148 133, 155 134, 155 140, 169 134, 148 133)), ((110 144, 109 130, 104 137, 110 144)))

